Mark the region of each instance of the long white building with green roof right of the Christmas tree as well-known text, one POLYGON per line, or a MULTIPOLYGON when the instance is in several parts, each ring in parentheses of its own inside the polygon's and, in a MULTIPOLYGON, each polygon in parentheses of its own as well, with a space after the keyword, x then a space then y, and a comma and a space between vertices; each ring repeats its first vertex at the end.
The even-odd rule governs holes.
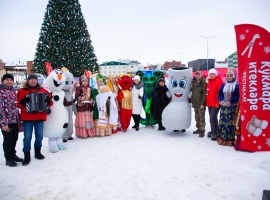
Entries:
POLYGON ((100 73, 107 77, 110 74, 135 74, 135 72, 142 69, 144 69, 144 67, 138 61, 130 61, 129 63, 109 61, 99 65, 100 73))

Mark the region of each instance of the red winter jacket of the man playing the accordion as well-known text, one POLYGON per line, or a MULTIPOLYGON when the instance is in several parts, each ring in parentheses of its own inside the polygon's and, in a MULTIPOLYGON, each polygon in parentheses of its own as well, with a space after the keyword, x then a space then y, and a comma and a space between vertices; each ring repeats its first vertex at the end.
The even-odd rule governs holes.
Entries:
MULTIPOLYGON (((38 83, 38 87, 36 88, 29 88, 27 84, 25 83, 23 85, 23 88, 21 88, 18 91, 17 99, 18 99, 18 108, 21 109, 21 121, 46 121, 47 114, 45 112, 26 112, 26 105, 22 104, 21 101, 24 99, 26 94, 32 93, 32 92, 44 92, 48 93, 49 97, 51 98, 51 94, 45 90, 44 88, 40 87, 40 84, 38 83)), ((50 106, 53 104, 52 100, 50 100, 50 106)))

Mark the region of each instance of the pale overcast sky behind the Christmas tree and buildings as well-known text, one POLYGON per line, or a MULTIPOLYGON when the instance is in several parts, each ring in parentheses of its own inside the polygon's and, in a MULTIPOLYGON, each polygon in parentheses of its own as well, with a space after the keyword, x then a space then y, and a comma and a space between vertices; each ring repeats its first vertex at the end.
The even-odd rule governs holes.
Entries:
MULTIPOLYGON (((236 51, 234 25, 270 31, 270 0, 79 0, 101 64, 122 59, 144 65, 236 51), (181 56, 180 56, 180 53, 181 56)), ((48 0, 0 0, 0 59, 33 60, 48 0)))

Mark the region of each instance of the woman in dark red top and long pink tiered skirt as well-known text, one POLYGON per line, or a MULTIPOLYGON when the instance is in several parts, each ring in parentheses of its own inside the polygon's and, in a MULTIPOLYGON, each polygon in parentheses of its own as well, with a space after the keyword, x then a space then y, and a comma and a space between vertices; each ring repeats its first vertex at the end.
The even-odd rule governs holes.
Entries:
POLYGON ((93 121, 93 103, 92 91, 89 86, 89 80, 86 76, 81 77, 81 86, 76 88, 75 97, 77 99, 77 113, 75 119, 75 133, 78 138, 94 137, 96 135, 93 121), (83 82, 87 82, 86 86, 83 82))

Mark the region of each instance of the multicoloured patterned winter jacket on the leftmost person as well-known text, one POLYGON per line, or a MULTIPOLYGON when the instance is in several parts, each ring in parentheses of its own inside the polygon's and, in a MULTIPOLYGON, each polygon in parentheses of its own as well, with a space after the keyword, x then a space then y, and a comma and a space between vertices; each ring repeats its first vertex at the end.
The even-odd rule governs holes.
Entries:
POLYGON ((14 87, 0 85, 0 125, 18 123, 17 96, 14 87))

